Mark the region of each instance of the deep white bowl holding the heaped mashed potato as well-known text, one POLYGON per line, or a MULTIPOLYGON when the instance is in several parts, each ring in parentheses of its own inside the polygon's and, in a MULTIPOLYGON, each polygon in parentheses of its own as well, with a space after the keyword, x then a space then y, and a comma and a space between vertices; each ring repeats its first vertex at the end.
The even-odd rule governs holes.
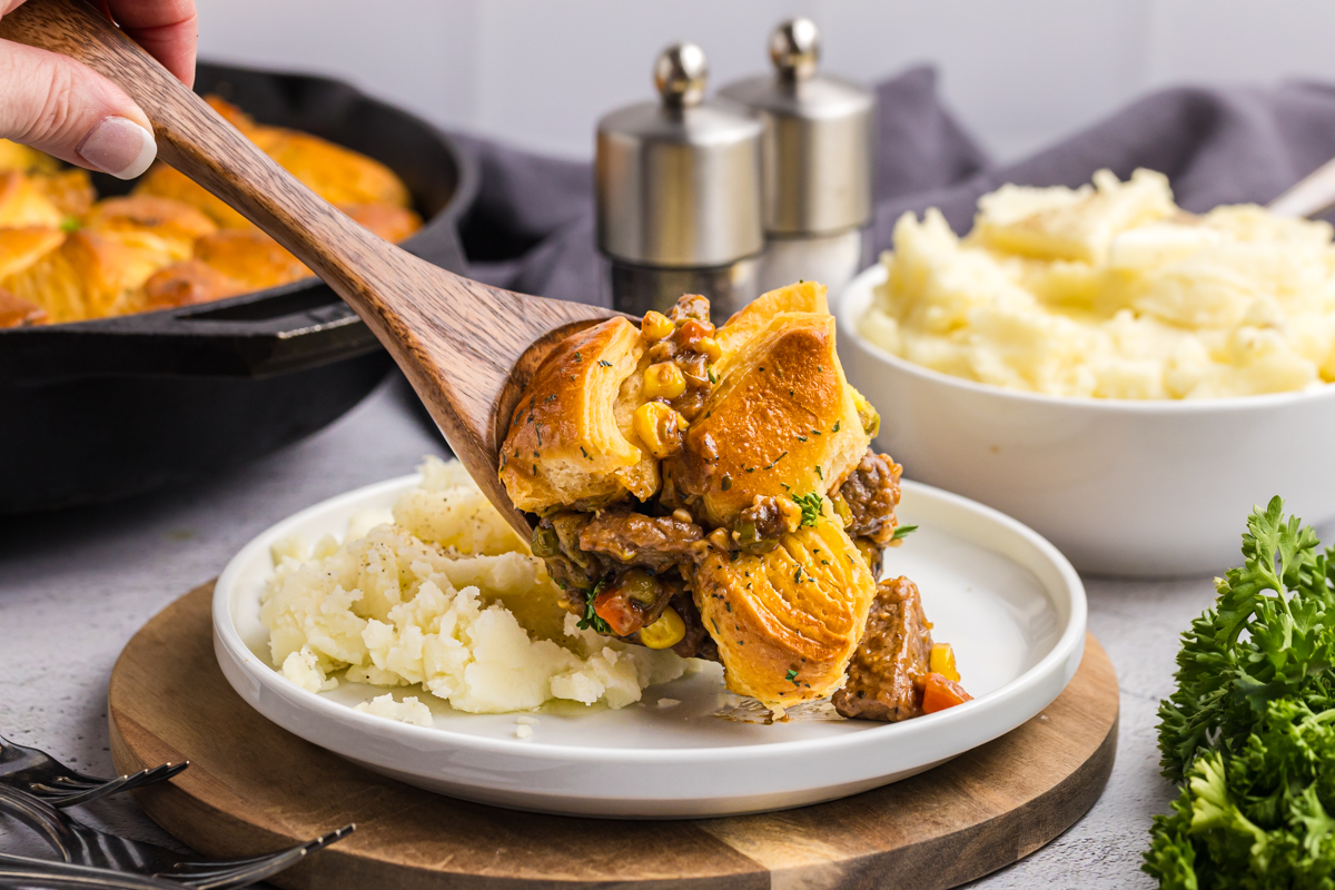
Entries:
POLYGON ((1230 399, 1075 399, 910 364, 857 332, 880 264, 838 298, 840 356, 904 474, 1007 512, 1112 575, 1223 572, 1254 504, 1335 518, 1335 386, 1230 399))

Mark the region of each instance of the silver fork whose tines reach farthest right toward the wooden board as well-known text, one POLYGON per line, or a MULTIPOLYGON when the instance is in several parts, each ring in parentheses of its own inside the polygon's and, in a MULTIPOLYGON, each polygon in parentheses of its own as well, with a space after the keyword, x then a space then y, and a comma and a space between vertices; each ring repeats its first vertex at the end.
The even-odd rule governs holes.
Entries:
POLYGON ((68 863, 175 881, 199 890, 230 890, 263 881, 296 865, 308 853, 346 838, 356 827, 348 825, 267 855, 192 862, 174 850, 92 829, 40 798, 3 785, 0 813, 12 815, 37 831, 68 863))

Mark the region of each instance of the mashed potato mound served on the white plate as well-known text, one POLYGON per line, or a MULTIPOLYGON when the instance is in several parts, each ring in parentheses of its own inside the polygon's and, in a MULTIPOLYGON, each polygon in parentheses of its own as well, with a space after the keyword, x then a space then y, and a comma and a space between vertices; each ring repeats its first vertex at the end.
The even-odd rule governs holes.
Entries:
MULTIPOLYGON (((541 559, 457 462, 427 458, 392 518, 356 518, 343 543, 274 547, 260 618, 283 675, 312 693, 347 682, 417 686, 455 710, 531 710, 559 698, 623 707, 681 677, 670 651, 578 630, 541 559), (391 522, 378 522, 386 519, 391 522)), ((415 697, 368 714, 429 726, 415 697)))

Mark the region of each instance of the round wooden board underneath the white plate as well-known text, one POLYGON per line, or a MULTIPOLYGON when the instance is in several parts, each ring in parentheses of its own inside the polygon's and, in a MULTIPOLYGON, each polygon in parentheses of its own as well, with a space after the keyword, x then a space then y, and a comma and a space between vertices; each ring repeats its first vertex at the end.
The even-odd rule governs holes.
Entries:
MULTIPOLYGON (((1033 853, 1103 791, 1117 679, 1093 636, 1043 715, 929 773, 852 798, 678 822, 577 819, 466 803, 399 785, 251 710, 214 658, 212 584, 140 630, 111 675, 121 773, 191 761, 135 797, 184 843, 254 855, 348 822, 358 830, 282 887, 953 887, 1033 853)), ((818 769, 818 765, 813 765, 818 769)))

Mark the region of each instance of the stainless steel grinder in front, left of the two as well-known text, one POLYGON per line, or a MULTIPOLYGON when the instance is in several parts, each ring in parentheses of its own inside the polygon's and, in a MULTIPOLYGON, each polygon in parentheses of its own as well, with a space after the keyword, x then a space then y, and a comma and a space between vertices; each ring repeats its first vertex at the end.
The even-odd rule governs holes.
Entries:
POLYGON ((704 294, 716 323, 760 291, 761 123, 705 97, 709 65, 696 44, 654 64, 659 101, 598 121, 598 250, 603 288, 631 315, 704 294))

